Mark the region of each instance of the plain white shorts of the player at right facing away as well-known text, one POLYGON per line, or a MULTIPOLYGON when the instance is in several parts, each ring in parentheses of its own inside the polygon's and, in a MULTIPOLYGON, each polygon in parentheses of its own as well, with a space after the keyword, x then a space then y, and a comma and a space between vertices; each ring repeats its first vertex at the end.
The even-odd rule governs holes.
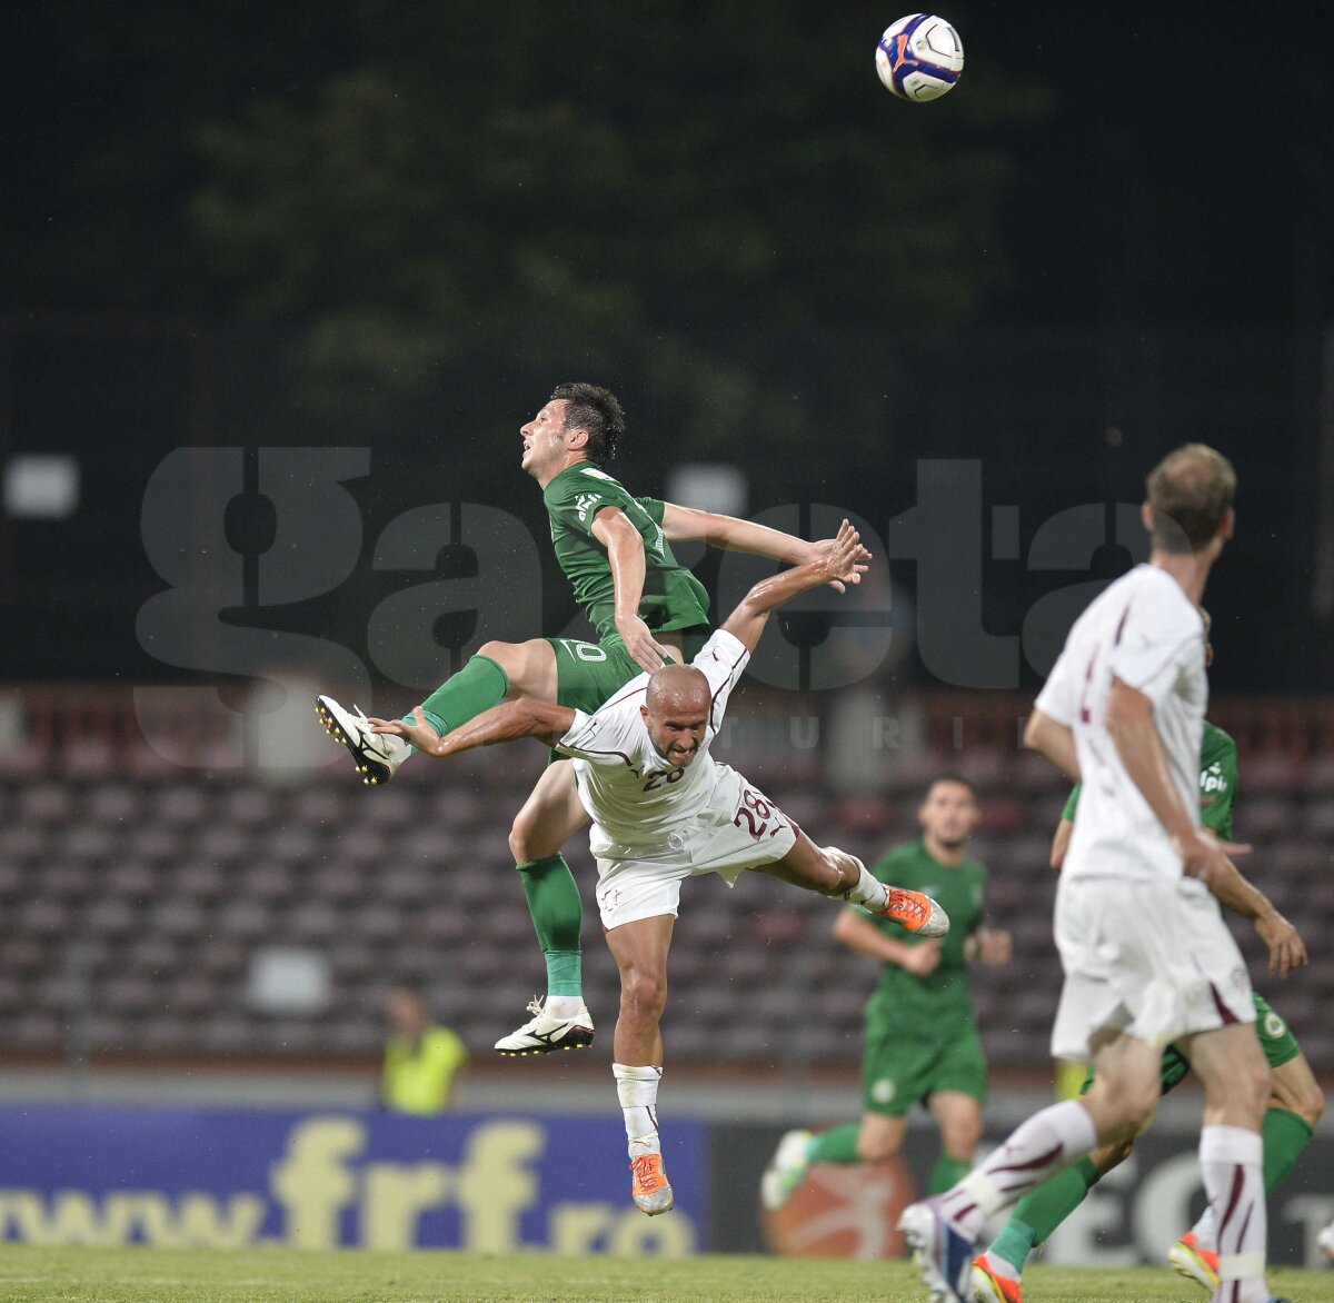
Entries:
POLYGON ((1197 882, 1062 878, 1055 934, 1066 974, 1051 1028, 1058 1059, 1087 1063, 1103 1028, 1163 1047, 1255 1020, 1246 963, 1197 882))

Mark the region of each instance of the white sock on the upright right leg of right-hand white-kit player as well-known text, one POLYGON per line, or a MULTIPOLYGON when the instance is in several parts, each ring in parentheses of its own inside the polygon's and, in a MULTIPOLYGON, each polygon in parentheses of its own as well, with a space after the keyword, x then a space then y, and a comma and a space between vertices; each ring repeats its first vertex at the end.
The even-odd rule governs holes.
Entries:
POLYGON ((1238 1303, 1262 1303, 1269 1298, 1263 1156, 1257 1131, 1205 1127, 1199 1132, 1199 1171, 1214 1210, 1218 1276, 1223 1286, 1238 1282, 1237 1291, 1227 1295, 1238 1303))

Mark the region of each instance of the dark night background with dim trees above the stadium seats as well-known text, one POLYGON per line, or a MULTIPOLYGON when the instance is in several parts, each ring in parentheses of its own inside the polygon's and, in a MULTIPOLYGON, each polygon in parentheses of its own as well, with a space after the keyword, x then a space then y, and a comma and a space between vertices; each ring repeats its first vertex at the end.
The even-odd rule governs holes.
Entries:
MULTIPOLYGON (((830 503, 883 528, 916 501, 919 459, 978 459, 992 635, 1126 564, 1106 545, 1082 575, 1038 572, 1043 521, 1137 501, 1163 452, 1214 443, 1241 475, 1209 593, 1215 687, 1330 687, 1322 19, 951 7, 963 79, 914 105, 872 67, 896 16, 20 5, 0 77, 0 456, 75 453, 81 499, 3 523, 0 676, 180 678, 135 632, 164 587, 144 485, 180 447, 370 447, 367 556, 438 501, 503 507, 540 543, 518 427, 590 377, 630 411, 616 469, 639 492, 728 461, 750 512, 830 503), (1019 508, 1017 556, 992 545, 996 507, 1019 508)), ((253 481, 233 507, 233 549, 263 555, 253 481)), ((440 572, 460 564, 442 553, 440 572)), ((894 576, 930 604, 911 560, 894 576)), ((367 569, 223 617, 360 649, 400 581, 367 569)), ((572 608, 551 565, 546 587, 556 631, 572 608)), ((442 656, 467 636, 442 628, 442 656)))

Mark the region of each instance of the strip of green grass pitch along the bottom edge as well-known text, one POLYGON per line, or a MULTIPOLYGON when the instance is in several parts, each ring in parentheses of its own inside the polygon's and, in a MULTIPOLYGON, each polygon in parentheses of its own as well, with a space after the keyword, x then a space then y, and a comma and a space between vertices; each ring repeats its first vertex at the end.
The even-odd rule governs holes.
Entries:
MULTIPOLYGON (((1295 1300, 1334 1299, 1334 1272, 1274 1271, 1295 1300)), ((924 1303, 907 1262, 828 1258, 559 1258, 291 1248, 0 1246, 0 1299, 23 1303, 924 1303)), ((1205 1303, 1165 1268, 1035 1266, 1026 1303, 1205 1303)))

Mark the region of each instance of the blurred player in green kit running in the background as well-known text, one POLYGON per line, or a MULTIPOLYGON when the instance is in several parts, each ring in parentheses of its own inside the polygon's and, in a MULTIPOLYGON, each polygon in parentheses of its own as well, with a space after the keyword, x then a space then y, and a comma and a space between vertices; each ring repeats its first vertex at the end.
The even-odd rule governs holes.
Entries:
POLYGON ((898 924, 843 910, 834 935, 884 963, 866 1010, 860 1123, 783 1136, 760 1183, 764 1207, 791 1198, 812 1163, 878 1163, 898 1154, 908 1111, 923 1102, 940 1128, 931 1191, 948 1190, 972 1164, 982 1136, 987 1066, 968 991, 967 960, 1010 959, 1010 935, 986 928, 987 871, 970 859, 980 819, 976 792, 959 775, 934 779, 918 810, 922 838, 886 855, 871 872, 938 900, 950 935, 922 940, 898 924))

